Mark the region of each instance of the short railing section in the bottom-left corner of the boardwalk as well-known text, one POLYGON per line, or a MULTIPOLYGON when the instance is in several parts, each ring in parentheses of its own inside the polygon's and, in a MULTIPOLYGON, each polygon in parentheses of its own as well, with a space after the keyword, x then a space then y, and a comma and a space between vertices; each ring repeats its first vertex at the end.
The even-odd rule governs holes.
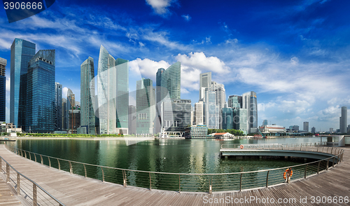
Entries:
POLYGON ((17 195, 22 195, 29 204, 32 205, 59 205, 64 206, 48 191, 45 191, 35 181, 29 179, 24 174, 18 172, 12 165, 10 165, 4 158, 0 156, 0 169, 6 177, 6 183, 10 184, 17 195), (3 164, 5 162, 6 164, 3 164), (5 167, 5 169, 3 168, 5 167))

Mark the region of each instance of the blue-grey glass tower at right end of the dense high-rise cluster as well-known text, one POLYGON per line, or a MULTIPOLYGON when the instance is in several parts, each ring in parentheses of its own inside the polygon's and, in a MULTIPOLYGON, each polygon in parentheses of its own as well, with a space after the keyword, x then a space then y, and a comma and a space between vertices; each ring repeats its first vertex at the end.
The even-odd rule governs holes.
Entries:
POLYGON ((258 103, 255 92, 246 92, 242 95, 242 108, 248 109, 248 133, 258 130, 258 103))

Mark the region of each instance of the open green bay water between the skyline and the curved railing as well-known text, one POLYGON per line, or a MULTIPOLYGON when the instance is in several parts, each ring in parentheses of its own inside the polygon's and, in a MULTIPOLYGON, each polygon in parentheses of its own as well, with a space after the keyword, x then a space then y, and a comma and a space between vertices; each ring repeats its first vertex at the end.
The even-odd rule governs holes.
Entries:
POLYGON ((221 173, 263 170, 293 164, 286 160, 220 158, 221 144, 320 142, 318 137, 235 139, 155 139, 130 144, 118 140, 24 139, 20 149, 82 163, 131 170, 174 173, 221 173))

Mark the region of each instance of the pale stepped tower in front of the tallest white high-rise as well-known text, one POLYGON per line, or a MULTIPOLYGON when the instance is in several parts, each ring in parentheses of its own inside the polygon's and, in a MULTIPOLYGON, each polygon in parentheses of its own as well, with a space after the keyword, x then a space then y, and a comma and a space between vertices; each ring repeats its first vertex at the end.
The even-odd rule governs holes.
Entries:
POLYGON ((209 129, 219 129, 219 106, 216 105, 216 93, 210 88, 205 90, 204 122, 209 129))

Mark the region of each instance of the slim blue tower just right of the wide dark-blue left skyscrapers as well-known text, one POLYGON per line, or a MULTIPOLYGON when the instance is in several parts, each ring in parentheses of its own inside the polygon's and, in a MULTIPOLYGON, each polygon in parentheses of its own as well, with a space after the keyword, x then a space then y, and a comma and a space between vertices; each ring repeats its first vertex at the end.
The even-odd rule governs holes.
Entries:
POLYGON ((62 131, 62 84, 55 83, 55 131, 62 131))

